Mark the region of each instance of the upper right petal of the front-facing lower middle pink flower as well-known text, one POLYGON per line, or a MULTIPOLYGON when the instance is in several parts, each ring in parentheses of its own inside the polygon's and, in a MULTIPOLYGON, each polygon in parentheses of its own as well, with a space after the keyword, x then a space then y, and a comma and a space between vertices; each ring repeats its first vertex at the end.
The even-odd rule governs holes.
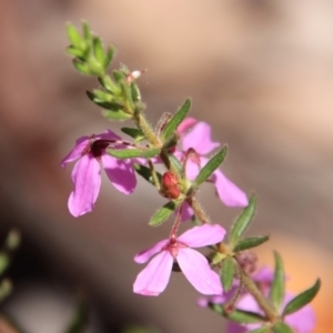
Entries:
POLYGON ((178 240, 191 248, 216 244, 223 240, 225 230, 219 224, 203 224, 185 231, 178 240))

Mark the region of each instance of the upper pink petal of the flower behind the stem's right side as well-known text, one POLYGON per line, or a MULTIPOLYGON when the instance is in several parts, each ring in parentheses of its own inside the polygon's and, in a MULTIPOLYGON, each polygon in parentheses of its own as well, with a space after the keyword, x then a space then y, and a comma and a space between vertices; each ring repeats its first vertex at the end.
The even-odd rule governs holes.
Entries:
POLYGON ((183 151, 193 148, 201 155, 210 153, 219 145, 219 142, 212 141, 211 127, 205 122, 199 122, 182 140, 183 151))

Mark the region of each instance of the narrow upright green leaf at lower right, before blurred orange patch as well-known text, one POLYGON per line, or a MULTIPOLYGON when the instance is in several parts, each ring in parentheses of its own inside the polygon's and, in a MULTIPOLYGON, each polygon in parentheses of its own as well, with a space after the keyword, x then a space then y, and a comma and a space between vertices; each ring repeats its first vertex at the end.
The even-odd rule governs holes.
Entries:
POLYGON ((274 279, 272 282, 271 291, 270 291, 270 300, 275 307, 275 310, 280 313, 281 305, 284 300, 284 270, 283 262, 278 252, 274 252, 275 256, 275 269, 274 269, 274 279))

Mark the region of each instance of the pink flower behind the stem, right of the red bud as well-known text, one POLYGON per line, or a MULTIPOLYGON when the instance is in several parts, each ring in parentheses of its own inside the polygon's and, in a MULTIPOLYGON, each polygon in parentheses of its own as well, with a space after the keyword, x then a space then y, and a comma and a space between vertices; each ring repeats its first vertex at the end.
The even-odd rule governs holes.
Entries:
MULTIPOLYGON (((200 167, 204 167, 210 154, 215 148, 220 147, 219 142, 211 140, 211 127, 205 122, 198 122, 190 132, 184 131, 193 125, 195 120, 185 119, 179 127, 179 133, 182 135, 182 151, 175 152, 175 155, 182 160, 189 149, 193 149, 200 155, 200 167)), ((196 163, 189 159, 186 163, 186 176, 194 180, 200 172, 196 163)), ((210 181, 214 183, 220 200, 228 206, 246 206, 249 204, 246 194, 231 182, 221 170, 215 170, 210 181)))

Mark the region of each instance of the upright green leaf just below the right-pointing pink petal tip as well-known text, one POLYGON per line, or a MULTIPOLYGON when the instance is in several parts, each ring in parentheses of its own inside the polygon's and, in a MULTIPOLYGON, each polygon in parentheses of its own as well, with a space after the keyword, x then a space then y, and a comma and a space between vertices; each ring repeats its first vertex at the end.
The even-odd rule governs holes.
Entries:
POLYGON ((249 205, 242 211, 240 216, 233 223, 231 231, 230 231, 230 245, 234 248, 234 245, 239 242, 243 233, 249 228, 250 223, 252 222, 254 212, 256 206, 256 196, 252 194, 250 198, 249 205))

